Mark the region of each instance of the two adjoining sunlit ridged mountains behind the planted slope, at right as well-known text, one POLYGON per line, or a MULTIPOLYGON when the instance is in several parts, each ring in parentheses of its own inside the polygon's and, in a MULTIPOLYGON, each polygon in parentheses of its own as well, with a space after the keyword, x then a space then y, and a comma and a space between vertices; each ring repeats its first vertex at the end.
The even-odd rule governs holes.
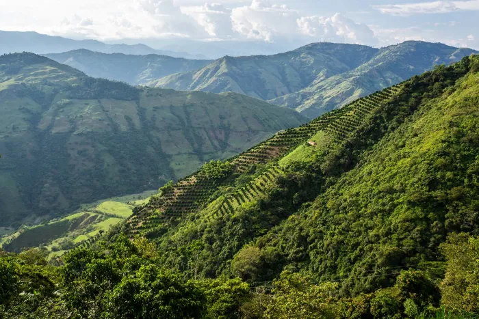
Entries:
POLYGON ((268 57, 225 57, 203 69, 172 74, 150 84, 239 92, 317 117, 435 65, 448 65, 475 52, 420 41, 380 49, 318 43, 268 57))

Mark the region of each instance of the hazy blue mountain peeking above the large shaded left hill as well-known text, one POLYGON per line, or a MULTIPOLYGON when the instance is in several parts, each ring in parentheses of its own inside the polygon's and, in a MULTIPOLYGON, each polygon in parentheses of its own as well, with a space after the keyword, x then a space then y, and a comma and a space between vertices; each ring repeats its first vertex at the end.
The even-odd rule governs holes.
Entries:
POLYGON ((164 55, 105 54, 75 50, 45 55, 49 59, 85 72, 89 77, 140 85, 167 75, 203 68, 210 60, 190 60, 164 55))

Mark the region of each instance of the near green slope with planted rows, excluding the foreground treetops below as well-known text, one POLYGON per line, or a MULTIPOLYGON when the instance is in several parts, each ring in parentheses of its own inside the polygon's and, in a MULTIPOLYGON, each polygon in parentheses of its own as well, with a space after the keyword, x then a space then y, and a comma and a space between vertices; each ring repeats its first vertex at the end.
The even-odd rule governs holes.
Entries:
POLYGON ((205 165, 122 231, 194 278, 299 271, 354 296, 440 276, 446 236, 479 233, 478 96, 479 57, 441 66, 205 165))

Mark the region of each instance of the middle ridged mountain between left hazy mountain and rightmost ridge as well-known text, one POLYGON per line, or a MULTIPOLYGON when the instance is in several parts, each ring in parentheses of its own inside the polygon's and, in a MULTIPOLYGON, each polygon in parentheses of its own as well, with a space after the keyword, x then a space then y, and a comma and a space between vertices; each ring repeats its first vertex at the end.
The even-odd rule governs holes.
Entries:
POLYGON ((356 44, 318 43, 278 55, 223 57, 200 70, 172 74, 151 85, 215 93, 233 91, 270 100, 352 70, 376 51, 356 44))

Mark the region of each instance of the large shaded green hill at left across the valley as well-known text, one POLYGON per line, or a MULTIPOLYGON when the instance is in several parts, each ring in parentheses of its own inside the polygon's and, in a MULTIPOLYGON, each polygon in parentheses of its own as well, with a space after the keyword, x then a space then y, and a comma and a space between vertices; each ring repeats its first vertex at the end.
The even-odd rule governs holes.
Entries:
POLYGON ((305 121, 239 94, 136 88, 31 53, 0 57, 0 101, 0 225, 157 189, 305 121))

